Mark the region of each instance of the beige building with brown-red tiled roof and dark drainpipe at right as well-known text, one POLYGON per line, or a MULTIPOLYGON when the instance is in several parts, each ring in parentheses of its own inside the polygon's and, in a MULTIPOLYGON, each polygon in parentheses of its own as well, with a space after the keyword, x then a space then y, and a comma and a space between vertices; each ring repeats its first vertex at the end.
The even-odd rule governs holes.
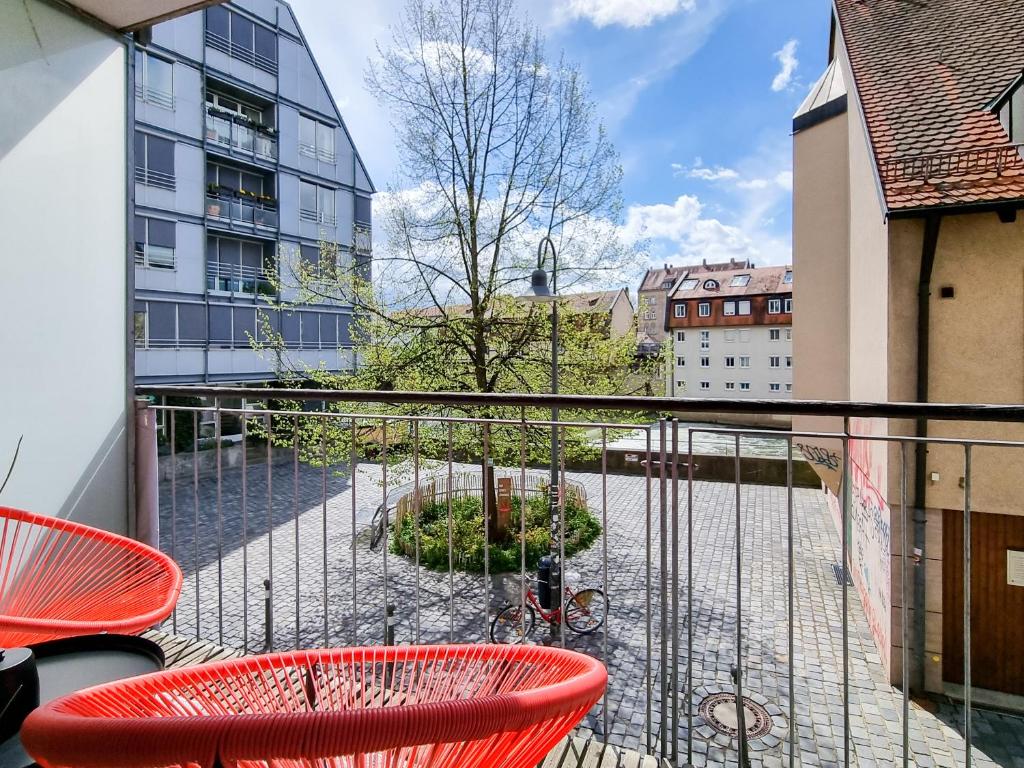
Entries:
MULTIPOLYGON (((834 0, 831 22, 827 67, 793 121, 796 397, 1024 401, 1024 5, 834 0)), ((980 436, 965 424, 948 431, 980 436)), ((1024 429, 992 425, 985 436, 1022 439, 1024 429)), ((938 444, 909 452, 907 502, 924 510, 907 531, 922 553, 908 566, 909 671, 916 689, 947 692, 963 683, 963 592, 954 588, 963 571, 957 558, 943 558, 942 541, 963 535, 964 456, 938 444)), ((900 449, 872 441, 852 453, 852 577, 895 679, 900 449)), ((1024 548, 1022 473, 1022 457, 1004 452, 976 484, 976 562, 1004 567, 1005 550, 1024 548)), ((822 479, 838 505, 840 474, 822 470, 822 479)), ((1024 694, 1024 665, 984 663, 986 649, 1010 647, 1011 628, 1024 626, 1021 589, 1005 573, 975 575, 986 588, 972 594, 973 684, 1024 694), (1006 621, 1008 606, 1020 621, 1006 621)))

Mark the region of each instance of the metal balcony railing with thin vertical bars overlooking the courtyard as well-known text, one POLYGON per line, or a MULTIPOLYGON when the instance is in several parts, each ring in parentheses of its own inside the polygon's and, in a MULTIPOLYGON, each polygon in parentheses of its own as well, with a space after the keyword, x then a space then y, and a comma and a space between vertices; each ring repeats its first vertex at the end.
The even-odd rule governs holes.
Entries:
MULTIPOLYGON (((1009 471, 1024 442, 967 435, 988 423, 1024 424, 1024 407, 137 392, 202 398, 151 407, 169 425, 161 544, 186 573, 176 633, 248 651, 384 638, 479 642, 502 611, 530 604, 539 546, 563 564, 565 586, 604 591, 606 620, 589 635, 568 631, 574 620, 565 612, 549 624, 519 610, 515 622, 525 630, 532 616, 534 640, 601 658, 608 690, 584 726, 660 765, 989 765, 986 734, 1019 726, 973 702, 971 543, 992 478, 974 471, 973 459, 1001 457, 1009 471), (550 418, 553 408, 562 418, 550 418), (686 425, 667 418, 673 411, 822 417, 836 426, 686 425), (608 421, 608 413, 637 421, 608 421), (941 424, 944 436, 903 436, 918 420, 941 424), (233 447, 222 439, 229 432, 233 447), (193 436, 215 447, 203 452, 193 436), (561 447, 558 493, 527 528, 514 495, 551 498, 552 437, 561 447), (955 545, 944 562, 963 567, 967 596, 964 700, 939 702, 937 714, 909 695, 911 664, 930 663, 909 613, 910 585, 925 567, 913 552, 924 511, 910 499, 922 445, 926 466, 951 462, 963 475, 958 509, 945 513, 963 535, 947 522, 943 536, 955 545), (882 487, 872 485, 878 472, 888 473, 882 487), (474 521, 466 497, 494 498, 494 514, 474 521), (581 507, 598 526, 589 547, 577 546, 581 507), (984 727, 973 730, 976 723, 984 727)), ((957 626, 956 611, 949 621, 957 626)))

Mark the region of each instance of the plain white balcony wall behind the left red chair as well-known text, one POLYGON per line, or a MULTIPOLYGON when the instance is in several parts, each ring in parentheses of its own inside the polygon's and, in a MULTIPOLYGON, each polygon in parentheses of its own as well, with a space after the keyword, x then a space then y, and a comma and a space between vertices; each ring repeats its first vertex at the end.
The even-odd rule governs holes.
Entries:
POLYGON ((0 103, 16 104, 0 120, 4 471, 24 437, 0 502, 119 532, 129 510, 125 56, 122 38, 49 3, 0 7, 0 103))

